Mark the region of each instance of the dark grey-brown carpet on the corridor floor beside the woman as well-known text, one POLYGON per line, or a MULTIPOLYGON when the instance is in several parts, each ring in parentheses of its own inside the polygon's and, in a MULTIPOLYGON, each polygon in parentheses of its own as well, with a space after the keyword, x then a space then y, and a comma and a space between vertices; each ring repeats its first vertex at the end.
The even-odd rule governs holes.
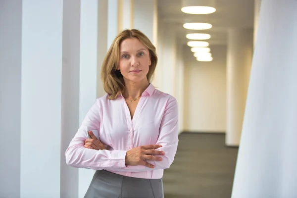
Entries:
POLYGON ((225 134, 182 133, 163 176, 165 198, 230 198, 238 148, 225 134))

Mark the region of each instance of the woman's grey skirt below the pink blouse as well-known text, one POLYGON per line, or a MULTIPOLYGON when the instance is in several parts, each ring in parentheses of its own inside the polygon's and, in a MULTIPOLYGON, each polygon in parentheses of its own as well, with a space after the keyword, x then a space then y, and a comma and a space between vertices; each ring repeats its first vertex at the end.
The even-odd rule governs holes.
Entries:
POLYGON ((164 198, 163 182, 99 170, 84 198, 164 198))

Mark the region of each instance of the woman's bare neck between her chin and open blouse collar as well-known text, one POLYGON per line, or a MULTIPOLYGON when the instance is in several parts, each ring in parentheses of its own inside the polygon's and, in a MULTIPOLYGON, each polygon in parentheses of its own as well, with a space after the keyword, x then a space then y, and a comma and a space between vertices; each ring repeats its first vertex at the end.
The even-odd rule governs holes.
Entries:
POLYGON ((135 99, 140 97, 142 93, 148 88, 148 80, 143 80, 141 82, 125 82, 125 90, 123 97, 125 99, 135 99))

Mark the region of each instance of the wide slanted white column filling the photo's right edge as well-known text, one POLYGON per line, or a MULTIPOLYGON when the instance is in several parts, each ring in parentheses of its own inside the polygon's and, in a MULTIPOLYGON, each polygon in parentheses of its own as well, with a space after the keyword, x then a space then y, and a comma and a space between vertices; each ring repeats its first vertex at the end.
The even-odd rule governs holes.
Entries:
POLYGON ((232 198, 297 197, 296 8, 262 0, 232 198))

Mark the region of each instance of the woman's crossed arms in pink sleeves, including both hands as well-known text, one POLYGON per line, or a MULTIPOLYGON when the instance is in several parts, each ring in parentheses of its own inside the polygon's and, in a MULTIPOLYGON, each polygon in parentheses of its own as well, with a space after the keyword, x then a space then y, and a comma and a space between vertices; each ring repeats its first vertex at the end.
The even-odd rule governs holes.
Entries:
POLYGON ((98 105, 95 103, 92 106, 67 148, 66 163, 68 165, 95 170, 108 168, 124 172, 169 168, 178 144, 178 110, 175 99, 168 100, 156 144, 132 148, 128 151, 105 149, 93 133, 90 134, 91 139, 87 138, 87 132, 90 129, 99 129, 98 105))

